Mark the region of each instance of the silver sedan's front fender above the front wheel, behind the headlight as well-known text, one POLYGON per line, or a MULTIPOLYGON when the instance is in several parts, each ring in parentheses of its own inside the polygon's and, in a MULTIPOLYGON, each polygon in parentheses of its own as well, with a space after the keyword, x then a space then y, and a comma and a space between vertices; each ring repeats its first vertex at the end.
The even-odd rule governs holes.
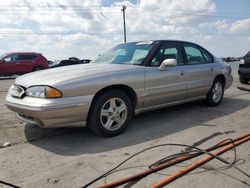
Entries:
POLYGON ((79 77, 64 83, 55 85, 62 91, 63 97, 95 96, 100 90, 114 85, 125 85, 132 88, 138 99, 137 107, 143 105, 144 69, 143 66, 134 66, 132 69, 119 70, 96 74, 89 77, 79 77))

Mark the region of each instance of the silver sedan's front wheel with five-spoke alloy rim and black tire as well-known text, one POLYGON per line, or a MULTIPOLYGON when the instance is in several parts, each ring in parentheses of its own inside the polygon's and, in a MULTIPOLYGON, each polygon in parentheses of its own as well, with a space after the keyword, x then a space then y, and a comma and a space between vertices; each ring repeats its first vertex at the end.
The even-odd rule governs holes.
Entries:
POLYGON ((87 127, 103 137, 121 134, 132 119, 133 107, 129 97, 111 90, 99 96, 91 106, 87 127))

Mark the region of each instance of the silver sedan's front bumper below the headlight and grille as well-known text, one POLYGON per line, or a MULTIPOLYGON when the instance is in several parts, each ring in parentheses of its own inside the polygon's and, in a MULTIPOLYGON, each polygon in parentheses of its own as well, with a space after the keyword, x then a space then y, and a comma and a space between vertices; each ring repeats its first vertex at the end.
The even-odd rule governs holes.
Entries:
POLYGON ((44 128, 85 126, 92 95, 57 99, 6 96, 6 106, 21 121, 44 128))

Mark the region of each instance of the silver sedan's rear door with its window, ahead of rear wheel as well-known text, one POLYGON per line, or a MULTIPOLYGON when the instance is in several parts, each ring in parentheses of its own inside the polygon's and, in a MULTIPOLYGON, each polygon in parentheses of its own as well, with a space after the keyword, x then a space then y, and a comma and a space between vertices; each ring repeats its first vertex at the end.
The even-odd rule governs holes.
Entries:
POLYGON ((183 44, 188 81, 187 98, 196 98, 208 93, 213 83, 214 63, 212 56, 195 44, 183 44))

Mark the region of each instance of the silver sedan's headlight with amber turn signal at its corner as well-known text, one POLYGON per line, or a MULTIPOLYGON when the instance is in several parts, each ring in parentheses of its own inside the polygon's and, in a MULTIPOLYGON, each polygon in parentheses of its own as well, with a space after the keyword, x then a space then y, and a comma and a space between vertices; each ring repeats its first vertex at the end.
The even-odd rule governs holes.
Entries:
POLYGON ((26 90, 25 95, 38 98, 60 98, 62 92, 50 86, 32 86, 26 90))

